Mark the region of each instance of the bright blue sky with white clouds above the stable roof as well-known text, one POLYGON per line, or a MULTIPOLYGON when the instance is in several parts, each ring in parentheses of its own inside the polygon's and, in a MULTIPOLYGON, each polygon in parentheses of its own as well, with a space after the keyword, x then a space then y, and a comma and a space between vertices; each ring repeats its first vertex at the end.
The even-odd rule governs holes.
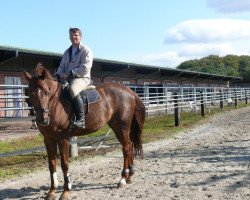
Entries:
POLYGON ((0 19, 0 46, 63 53, 78 27, 98 59, 175 68, 250 55, 250 0, 5 0, 0 19))

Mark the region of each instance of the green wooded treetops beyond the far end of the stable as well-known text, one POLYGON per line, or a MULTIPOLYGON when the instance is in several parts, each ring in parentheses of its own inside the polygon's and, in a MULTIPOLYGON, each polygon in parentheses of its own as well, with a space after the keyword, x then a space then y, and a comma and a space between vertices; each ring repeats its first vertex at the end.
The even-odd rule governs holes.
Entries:
POLYGON ((219 57, 210 55, 201 59, 182 62, 177 69, 243 77, 243 82, 250 82, 250 56, 227 55, 219 57))

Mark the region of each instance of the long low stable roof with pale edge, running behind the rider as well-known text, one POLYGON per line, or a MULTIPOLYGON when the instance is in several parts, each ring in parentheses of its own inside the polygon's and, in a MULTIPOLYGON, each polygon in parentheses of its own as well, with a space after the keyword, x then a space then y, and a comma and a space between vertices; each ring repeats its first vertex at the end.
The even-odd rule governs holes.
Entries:
MULTIPOLYGON (((24 49, 11 46, 0 46, 0 63, 3 60, 6 60, 13 56, 17 57, 18 55, 26 55, 26 56, 36 55, 47 58, 53 58, 56 60, 60 60, 62 57, 62 53, 24 49)), ((135 76, 136 74, 137 79, 142 79, 142 78, 154 79, 158 77, 161 80, 174 79, 174 78, 182 78, 183 80, 206 79, 206 80, 215 80, 215 81, 223 80, 232 82, 239 82, 242 80, 242 77, 223 76, 217 74, 209 74, 203 72, 195 72, 189 70, 181 70, 169 67, 159 67, 159 66, 129 63, 122 61, 106 60, 100 58, 94 58, 94 66, 95 64, 101 65, 102 71, 106 72, 104 73, 105 77, 114 75, 117 75, 119 77, 123 76, 127 77, 128 75, 126 74, 126 72, 132 71, 133 73, 131 74, 133 76, 135 76)))

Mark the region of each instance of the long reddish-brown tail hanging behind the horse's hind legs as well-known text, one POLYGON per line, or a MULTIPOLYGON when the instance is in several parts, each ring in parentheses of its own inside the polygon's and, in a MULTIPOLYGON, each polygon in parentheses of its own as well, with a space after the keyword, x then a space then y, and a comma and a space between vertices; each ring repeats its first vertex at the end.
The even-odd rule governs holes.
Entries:
POLYGON ((133 144, 134 156, 143 157, 142 150, 142 131, 145 122, 145 106, 141 99, 135 96, 136 107, 130 128, 130 139, 133 144))

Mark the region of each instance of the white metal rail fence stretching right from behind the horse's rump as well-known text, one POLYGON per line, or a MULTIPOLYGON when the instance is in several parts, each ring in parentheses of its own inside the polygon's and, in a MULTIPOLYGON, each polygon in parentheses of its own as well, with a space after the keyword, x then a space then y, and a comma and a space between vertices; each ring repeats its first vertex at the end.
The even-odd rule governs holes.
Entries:
POLYGON ((219 106, 221 103, 235 104, 250 98, 250 88, 221 87, 131 87, 143 100, 147 115, 172 113, 175 108, 174 98, 178 99, 181 111, 219 106))

